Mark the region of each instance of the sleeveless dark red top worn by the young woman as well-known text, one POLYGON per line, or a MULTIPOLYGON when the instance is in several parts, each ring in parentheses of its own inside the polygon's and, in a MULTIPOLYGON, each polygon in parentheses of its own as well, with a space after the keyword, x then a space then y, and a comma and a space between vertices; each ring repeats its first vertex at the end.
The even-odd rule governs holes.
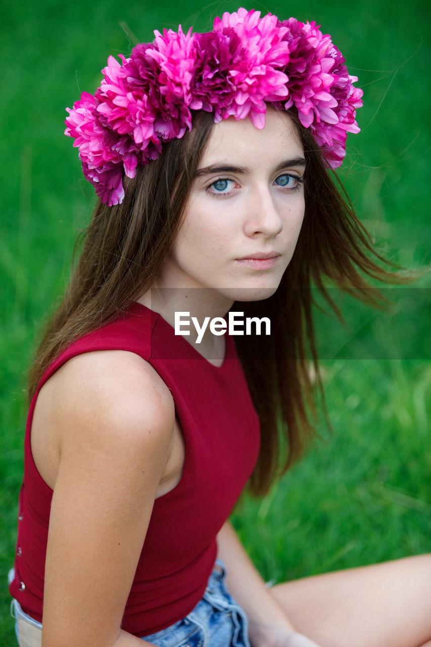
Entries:
POLYGON ((216 559, 216 534, 259 452, 258 416, 234 339, 227 335, 226 342, 222 366, 213 366, 159 314, 134 303, 115 322, 72 343, 47 369, 28 413, 15 578, 10 584, 10 593, 28 615, 42 621, 52 499, 30 450, 36 398, 71 357, 106 349, 137 353, 155 368, 171 390, 186 446, 181 481, 155 500, 122 628, 137 636, 154 633, 186 616, 199 602, 216 559))

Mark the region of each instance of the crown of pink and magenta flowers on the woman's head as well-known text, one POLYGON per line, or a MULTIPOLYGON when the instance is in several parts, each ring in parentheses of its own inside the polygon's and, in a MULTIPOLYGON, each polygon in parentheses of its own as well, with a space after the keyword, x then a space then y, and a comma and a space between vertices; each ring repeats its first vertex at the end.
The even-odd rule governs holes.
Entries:
POLYGON ((67 108, 65 135, 80 149, 86 179, 102 202, 120 204, 123 171, 162 152, 162 142, 192 129, 192 111, 214 112, 220 122, 249 116, 265 126, 265 102, 295 107, 331 168, 346 155, 347 133, 358 133, 356 108, 362 90, 353 87, 341 52, 316 23, 279 21, 239 8, 216 18, 203 34, 155 31, 153 43, 133 48, 122 64, 109 56, 104 79, 67 108))

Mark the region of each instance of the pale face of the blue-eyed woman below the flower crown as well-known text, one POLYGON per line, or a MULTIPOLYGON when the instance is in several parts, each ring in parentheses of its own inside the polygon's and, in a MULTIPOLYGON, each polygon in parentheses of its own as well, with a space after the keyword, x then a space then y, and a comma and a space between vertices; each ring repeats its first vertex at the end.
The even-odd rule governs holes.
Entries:
POLYGON ((216 124, 159 285, 211 288, 239 301, 271 296, 304 218, 304 170, 286 113, 269 109, 262 130, 249 118, 216 124))

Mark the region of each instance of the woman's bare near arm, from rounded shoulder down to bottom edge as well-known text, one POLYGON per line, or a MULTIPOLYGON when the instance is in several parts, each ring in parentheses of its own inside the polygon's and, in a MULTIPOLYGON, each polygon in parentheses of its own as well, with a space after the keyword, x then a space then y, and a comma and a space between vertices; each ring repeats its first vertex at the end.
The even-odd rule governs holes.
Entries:
POLYGON ((169 454, 173 400, 149 364, 122 351, 74 358, 52 397, 60 466, 43 644, 102 647, 118 635, 169 454))

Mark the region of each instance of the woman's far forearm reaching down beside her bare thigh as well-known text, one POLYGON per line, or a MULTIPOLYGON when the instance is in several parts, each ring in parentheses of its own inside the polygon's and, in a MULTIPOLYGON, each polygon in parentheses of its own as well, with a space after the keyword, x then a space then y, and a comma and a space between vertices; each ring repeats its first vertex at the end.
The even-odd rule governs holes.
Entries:
POLYGON ((227 586, 249 618, 253 647, 318 647, 297 633, 227 521, 217 536, 218 556, 228 570, 227 586))

